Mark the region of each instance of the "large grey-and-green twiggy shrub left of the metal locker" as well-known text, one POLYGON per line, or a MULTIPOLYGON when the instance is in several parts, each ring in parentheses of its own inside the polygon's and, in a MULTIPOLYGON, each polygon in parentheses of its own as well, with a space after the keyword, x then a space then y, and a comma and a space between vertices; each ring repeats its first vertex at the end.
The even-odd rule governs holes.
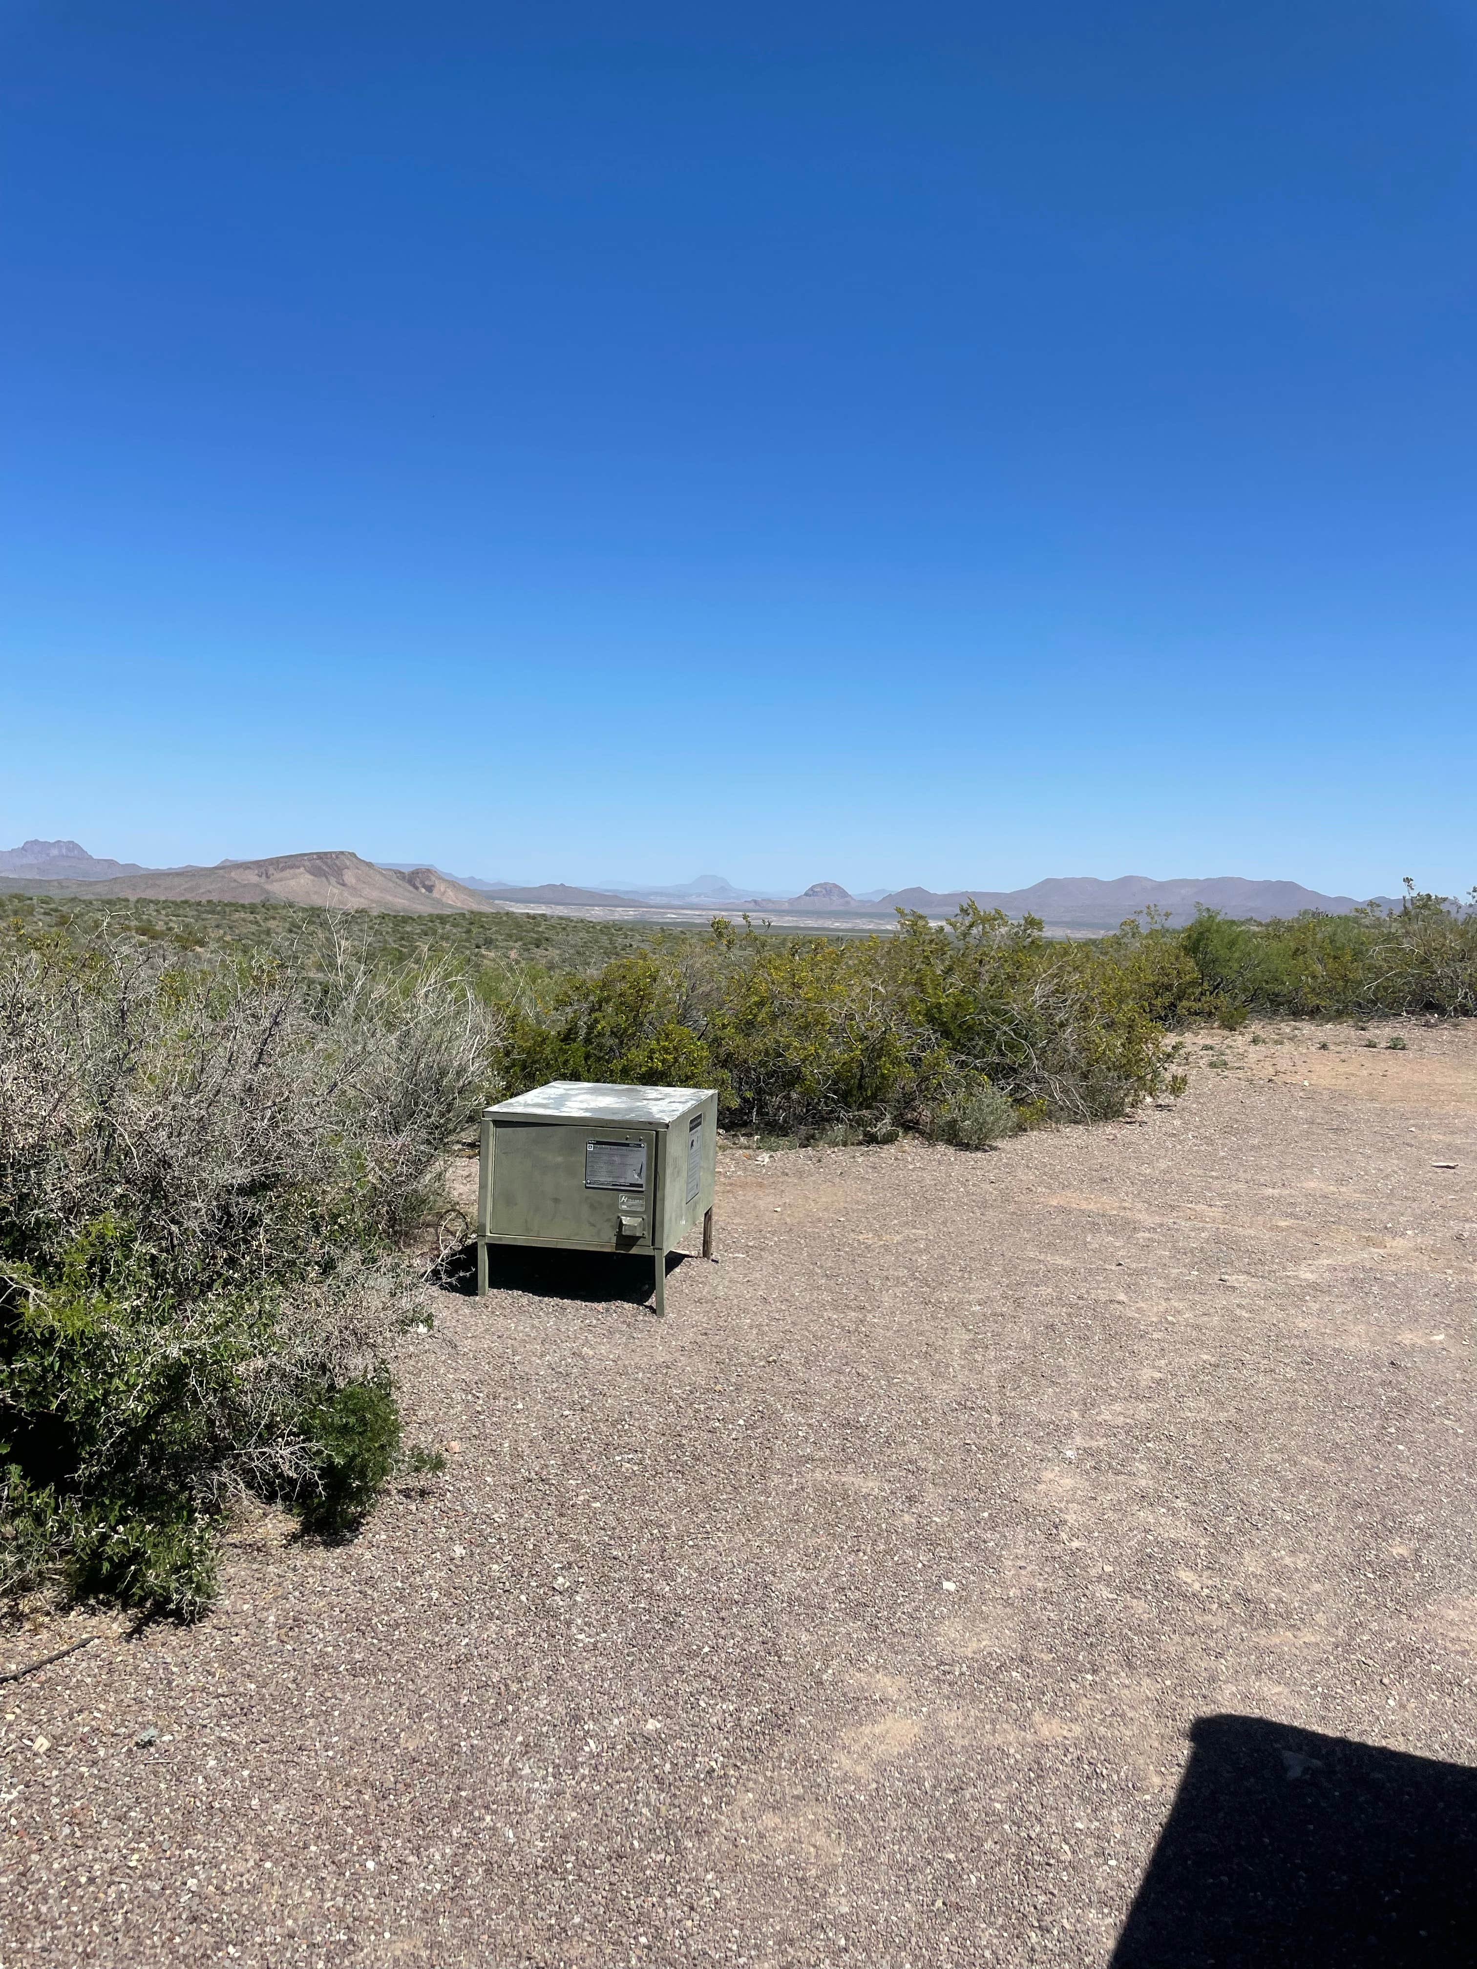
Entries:
POLYGON ((0 1585, 191 1615, 244 1493, 368 1508, 400 1449, 392 1246, 486 1042, 445 975, 345 949, 0 967, 0 1585))

